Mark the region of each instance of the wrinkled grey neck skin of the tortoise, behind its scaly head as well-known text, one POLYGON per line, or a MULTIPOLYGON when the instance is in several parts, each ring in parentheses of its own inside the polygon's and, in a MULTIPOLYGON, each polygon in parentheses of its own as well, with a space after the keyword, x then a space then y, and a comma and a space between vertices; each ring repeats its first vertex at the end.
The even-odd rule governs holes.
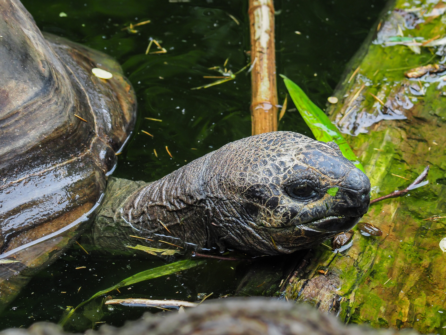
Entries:
POLYGON ((117 210, 116 219, 149 239, 223 251, 225 240, 234 237, 216 228, 240 220, 235 199, 221 192, 215 159, 212 152, 137 190, 117 210))

